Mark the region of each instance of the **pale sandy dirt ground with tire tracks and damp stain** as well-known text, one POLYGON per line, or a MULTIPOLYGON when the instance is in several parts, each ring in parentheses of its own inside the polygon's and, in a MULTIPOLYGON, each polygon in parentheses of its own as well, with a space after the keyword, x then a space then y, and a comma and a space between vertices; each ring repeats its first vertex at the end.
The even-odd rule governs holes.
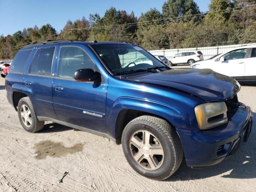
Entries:
POLYGON ((160 182, 134 172, 122 147, 106 138, 52 122, 38 133, 26 132, 0 78, 0 191, 255 192, 256 85, 242 86, 238 97, 254 112, 248 142, 214 166, 192 169, 182 162, 173 176, 160 182))

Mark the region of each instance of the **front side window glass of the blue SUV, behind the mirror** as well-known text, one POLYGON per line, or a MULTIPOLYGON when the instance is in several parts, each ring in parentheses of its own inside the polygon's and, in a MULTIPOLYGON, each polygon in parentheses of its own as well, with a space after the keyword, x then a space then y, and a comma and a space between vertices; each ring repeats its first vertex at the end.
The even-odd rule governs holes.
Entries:
POLYGON ((78 69, 90 68, 95 71, 95 65, 84 50, 78 47, 64 46, 60 50, 58 77, 74 79, 78 69))

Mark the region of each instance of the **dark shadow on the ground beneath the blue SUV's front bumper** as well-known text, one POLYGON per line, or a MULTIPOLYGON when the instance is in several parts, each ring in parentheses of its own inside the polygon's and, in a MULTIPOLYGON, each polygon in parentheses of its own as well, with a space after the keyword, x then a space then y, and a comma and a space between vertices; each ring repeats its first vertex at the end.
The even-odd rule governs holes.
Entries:
POLYGON ((213 166, 191 168, 183 159, 180 168, 165 181, 188 181, 220 175, 222 178, 256 178, 256 113, 253 112, 252 131, 236 154, 213 166))

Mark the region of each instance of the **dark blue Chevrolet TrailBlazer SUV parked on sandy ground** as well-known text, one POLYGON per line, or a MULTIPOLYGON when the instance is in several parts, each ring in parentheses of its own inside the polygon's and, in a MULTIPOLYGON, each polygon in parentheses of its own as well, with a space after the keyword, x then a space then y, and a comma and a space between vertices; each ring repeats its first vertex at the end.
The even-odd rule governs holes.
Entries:
POLYGON ((127 43, 30 44, 16 54, 6 90, 26 131, 52 121, 110 138, 136 172, 155 180, 171 176, 183 157, 188 166, 221 162, 252 127, 236 80, 169 68, 127 43))

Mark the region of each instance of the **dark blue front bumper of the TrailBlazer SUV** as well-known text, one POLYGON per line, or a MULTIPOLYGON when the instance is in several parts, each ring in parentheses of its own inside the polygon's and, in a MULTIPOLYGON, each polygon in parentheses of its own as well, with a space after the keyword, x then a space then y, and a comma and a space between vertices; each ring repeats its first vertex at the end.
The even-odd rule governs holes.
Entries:
POLYGON ((240 104, 228 124, 214 130, 186 130, 177 128, 188 166, 214 165, 240 148, 252 128, 250 108, 240 104))

